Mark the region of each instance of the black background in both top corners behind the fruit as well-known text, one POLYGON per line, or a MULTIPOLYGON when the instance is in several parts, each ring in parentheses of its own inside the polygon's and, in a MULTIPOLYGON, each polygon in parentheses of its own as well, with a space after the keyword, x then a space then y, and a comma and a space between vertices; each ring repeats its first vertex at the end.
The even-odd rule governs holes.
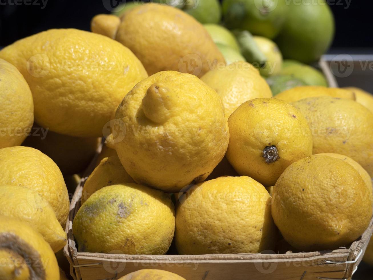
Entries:
MULTIPOLYGON (((373 53, 372 1, 328 0, 328 3, 336 20, 332 49, 373 53)), ((50 28, 89 30, 94 15, 109 13, 105 6, 110 7, 110 0, 47 0, 41 9, 43 6, 42 0, 0 0, 0 46, 50 28), (35 3, 16 5, 15 1, 35 3)))

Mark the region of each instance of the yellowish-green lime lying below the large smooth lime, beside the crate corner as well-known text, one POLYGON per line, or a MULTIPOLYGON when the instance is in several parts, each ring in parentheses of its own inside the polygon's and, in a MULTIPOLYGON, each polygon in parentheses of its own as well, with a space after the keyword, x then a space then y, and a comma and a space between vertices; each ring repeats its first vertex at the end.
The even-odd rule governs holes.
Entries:
POLYGON ((300 62, 284 60, 280 75, 291 75, 307 85, 328 86, 325 76, 316 68, 300 62))

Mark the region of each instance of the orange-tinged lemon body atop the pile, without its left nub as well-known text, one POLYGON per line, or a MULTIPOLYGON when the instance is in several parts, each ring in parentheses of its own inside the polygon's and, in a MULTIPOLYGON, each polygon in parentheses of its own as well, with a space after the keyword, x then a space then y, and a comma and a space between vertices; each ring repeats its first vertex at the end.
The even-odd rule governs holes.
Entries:
POLYGON ((175 70, 201 77, 225 63, 203 25, 180 9, 149 3, 121 19, 116 40, 134 52, 149 75, 175 70))

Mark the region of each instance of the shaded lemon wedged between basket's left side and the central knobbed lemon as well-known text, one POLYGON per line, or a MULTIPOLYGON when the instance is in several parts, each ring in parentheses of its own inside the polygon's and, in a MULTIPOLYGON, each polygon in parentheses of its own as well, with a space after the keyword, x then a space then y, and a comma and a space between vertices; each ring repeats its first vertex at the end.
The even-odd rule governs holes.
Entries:
POLYGON ((82 190, 82 203, 84 203, 85 200, 87 200, 97 190, 106 186, 121 183, 136 182, 128 175, 117 156, 104 158, 84 183, 82 190))

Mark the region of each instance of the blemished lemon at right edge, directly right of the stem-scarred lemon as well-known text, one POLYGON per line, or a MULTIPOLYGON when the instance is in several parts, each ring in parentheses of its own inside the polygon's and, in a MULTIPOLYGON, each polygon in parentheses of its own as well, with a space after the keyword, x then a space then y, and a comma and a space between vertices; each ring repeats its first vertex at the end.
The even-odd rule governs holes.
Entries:
POLYGON ((373 113, 347 99, 313 97, 292 103, 307 119, 313 153, 339 153, 373 176, 373 113))

